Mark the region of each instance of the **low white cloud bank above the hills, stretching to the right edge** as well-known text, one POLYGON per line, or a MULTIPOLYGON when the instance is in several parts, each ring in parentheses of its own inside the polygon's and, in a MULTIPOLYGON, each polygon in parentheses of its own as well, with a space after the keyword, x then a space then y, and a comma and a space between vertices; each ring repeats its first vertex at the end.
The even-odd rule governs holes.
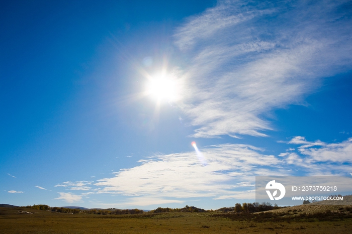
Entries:
POLYGON ((346 176, 352 172, 352 138, 327 144, 296 137, 289 143, 293 142, 306 145, 298 146, 297 153, 289 148, 277 157, 251 145, 205 147, 207 166, 194 152, 156 155, 140 160, 136 167, 121 169, 115 177, 98 180, 94 185, 100 188, 95 191, 120 194, 127 198, 123 204, 135 205, 182 203, 196 197, 254 199, 255 176, 346 176))

